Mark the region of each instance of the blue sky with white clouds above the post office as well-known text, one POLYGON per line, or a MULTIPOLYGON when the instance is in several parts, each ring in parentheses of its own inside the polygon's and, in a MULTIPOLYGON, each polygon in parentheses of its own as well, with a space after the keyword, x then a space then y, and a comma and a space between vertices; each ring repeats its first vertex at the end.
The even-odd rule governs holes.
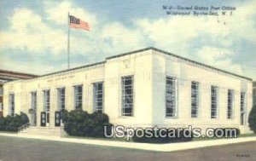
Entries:
POLYGON ((156 47, 256 79, 256 1, 0 2, 0 68, 44 74, 67 68, 67 12, 89 22, 71 29, 71 66, 156 47), (232 16, 166 15, 163 5, 230 6, 232 16))

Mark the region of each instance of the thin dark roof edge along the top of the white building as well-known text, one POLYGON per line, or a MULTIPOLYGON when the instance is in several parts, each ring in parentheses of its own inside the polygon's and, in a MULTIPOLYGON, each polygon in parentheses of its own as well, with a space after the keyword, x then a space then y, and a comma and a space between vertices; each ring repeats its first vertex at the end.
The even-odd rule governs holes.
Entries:
POLYGON ((208 65, 206 65, 206 64, 203 64, 203 63, 198 62, 198 61, 195 61, 195 60, 189 60, 189 59, 184 58, 184 57, 182 57, 182 56, 174 55, 174 54, 172 54, 172 53, 166 52, 166 51, 164 51, 164 50, 156 49, 156 48, 154 48, 154 47, 148 47, 148 48, 145 48, 145 49, 138 49, 138 50, 134 50, 134 51, 131 51, 131 52, 126 52, 126 53, 119 54, 119 55, 109 56, 109 57, 107 57, 106 60, 104 60, 104 61, 96 62, 96 63, 93 63, 93 64, 88 64, 88 65, 85 65, 85 66, 74 67, 74 68, 67 69, 67 70, 62 70, 62 71, 59 71, 59 72, 51 72, 51 73, 48 73, 48 74, 44 74, 44 75, 38 76, 38 78, 42 78, 42 77, 45 77, 45 76, 50 76, 50 75, 58 74, 58 73, 61 73, 61 72, 70 72, 70 71, 74 71, 74 70, 78 70, 78 69, 82 69, 82 68, 86 68, 86 67, 90 67, 90 66, 101 65, 101 64, 104 64, 107 60, 111 60, 111 59, 114 59, 114 58, 119 58, 119 57, 122 57, 122 56, 125 56, 125 55, 137 54, 137 53, 140 53, 140 52, 143 52, 143 51, 147 51, 147 50, 149 50, 149 49, 152 49, 152 50, 154 50, 154 51, 158 51, 158 52, 160 52, 160 53, 162 53, 162 54, 165 54, 165 55, 171 55, 171 56, 176 57, 177 59, 180 59, 180 60, 186 60, 186 61, 195 63, 195 64, 200 65, 200 66, 205 66, 205 67, 207 67, 207 68, 213 69, 213 70, 218 71, 218 72, 224 72, 224 73, 226 73, 226 74, 230 74, 230 75, 236 76, 236 77, 238 77, 238 78, 244 78, 244 79, 247 79, 247 80, 249 80, 249 81, 253 81, 252 78, 247 78, 247 77, 244 77, 244 76, 241 76, 241 75, 232 73, 232 72, 227 72, 227 71, 224 71, 224 70, 222 70, 222 69, 218 69, 218 68, 213 67, 213 66, 208 66, 208 65))

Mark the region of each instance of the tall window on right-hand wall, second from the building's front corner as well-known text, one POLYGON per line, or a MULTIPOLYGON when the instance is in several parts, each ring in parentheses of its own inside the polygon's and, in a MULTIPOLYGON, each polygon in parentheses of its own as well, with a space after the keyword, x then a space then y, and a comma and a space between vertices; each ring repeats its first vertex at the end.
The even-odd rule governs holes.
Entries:
POLYGON ((199 105, 199 83, 191 83, 191 118, 197 118, 199 105))

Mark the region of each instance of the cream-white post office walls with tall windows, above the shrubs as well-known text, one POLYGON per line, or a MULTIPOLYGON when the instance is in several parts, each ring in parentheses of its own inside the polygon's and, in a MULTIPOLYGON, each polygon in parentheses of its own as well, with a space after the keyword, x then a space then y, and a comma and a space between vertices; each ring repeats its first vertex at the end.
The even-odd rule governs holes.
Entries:
POLYGON ((107 113, 127 127, 238 128, 249 133, 250 78, 148 48, 96 64, 5 83, 5 115, 59 126, 61 109, 107 113))

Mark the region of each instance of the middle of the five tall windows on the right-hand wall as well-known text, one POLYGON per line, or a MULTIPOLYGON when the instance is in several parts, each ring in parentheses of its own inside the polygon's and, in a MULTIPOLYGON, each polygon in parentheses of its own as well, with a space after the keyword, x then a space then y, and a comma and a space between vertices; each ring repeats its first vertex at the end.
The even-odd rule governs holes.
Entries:
POLYGON ((218 107, 218 98, 217 98, 217 96, 218 96, 218 94, 217 94, 217 92, 218 92, 218 87, 216 87, 216 86, 212 86, 211 87, 211 118, 217 118, 218 116, 217 116, 217 112, 218 112, 218 109, 217 109, 217 107, 218 107))

